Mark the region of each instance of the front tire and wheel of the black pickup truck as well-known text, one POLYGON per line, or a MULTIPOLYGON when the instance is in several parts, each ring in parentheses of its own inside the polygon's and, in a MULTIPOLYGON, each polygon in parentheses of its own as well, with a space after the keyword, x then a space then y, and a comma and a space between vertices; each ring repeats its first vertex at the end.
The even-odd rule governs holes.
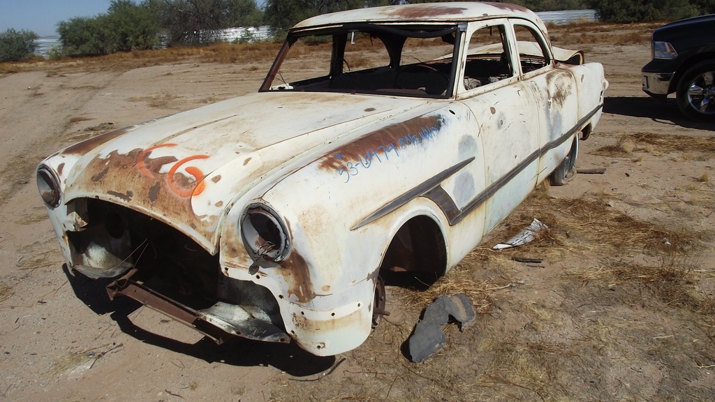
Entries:
POLYGON ((685 117, 715 122, 715 60, 695 64, 683 74, 676 102, 685 117))

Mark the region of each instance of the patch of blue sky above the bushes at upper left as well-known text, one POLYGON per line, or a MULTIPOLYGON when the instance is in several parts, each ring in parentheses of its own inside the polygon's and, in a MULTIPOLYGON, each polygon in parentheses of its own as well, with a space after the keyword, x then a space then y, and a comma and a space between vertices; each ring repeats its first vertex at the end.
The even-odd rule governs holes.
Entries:
POLYGON ((57 23, 107 13, 110 0, 0 0, 0 33, 13 28, 56 36, 57 23))

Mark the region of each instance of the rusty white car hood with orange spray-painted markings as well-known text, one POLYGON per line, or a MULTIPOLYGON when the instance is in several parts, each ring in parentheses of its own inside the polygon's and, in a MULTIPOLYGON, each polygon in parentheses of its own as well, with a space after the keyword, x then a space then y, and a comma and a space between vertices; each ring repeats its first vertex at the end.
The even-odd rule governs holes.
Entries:
POLYGON ((270 175, 329 152, 332 142, 425 104, 424 99, 262 92, 80 142, 54 163, 64 200, 126 205, 176 227, 210 252, 232 202, 270 175), (325 150, 323 150, 325 149, 325 150), (309 158, 309 159, 306 159, 309 158))

